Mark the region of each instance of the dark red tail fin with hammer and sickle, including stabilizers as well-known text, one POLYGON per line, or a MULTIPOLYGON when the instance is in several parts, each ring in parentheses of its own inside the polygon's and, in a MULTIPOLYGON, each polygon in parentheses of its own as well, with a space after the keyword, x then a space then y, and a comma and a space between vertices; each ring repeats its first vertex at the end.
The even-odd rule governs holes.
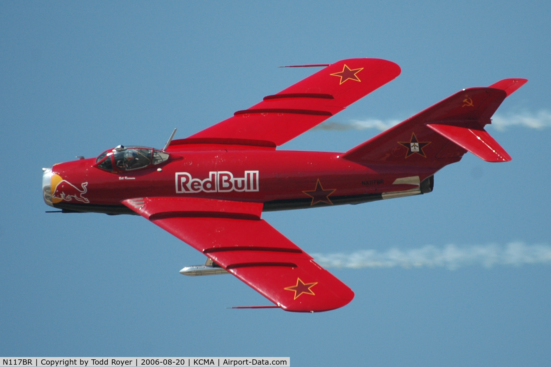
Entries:
POLYGON ((504 79, 489 87, 463 89, 343 155, 363 164, 396 163, 444 167, 467 152, 488 162, 511 157, 484 130, 490 117, 527 79, 504 79))

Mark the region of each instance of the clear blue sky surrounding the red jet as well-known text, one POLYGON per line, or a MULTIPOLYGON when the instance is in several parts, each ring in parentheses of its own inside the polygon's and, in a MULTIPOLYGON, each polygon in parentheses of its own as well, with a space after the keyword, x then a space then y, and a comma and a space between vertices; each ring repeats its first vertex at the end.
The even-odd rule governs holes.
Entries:
MULTIPOLYGON (((549 2, 0 3, 0 354, 547 365, 550 15, 549 2), (118 144, 160 148, 174 128, 185 138, 315 71, 279 65, 351 57, 402 74, 332 118, 344 125, 529 81, 497 113, 521 123, 488 128, 511 162, 467 154, 427 195, 264 213, 309 253, 387 261, 330 269, 356 294, 344 308, 228 310, 267 301, 231 276, 181 276, 204 256, 143 218, 44 212, 42 167, 118 144), (435 262, 450 245, 457 266, 435 262), (388 262, 391 249, 402 262, 388 262)), ((379 132, 311 130, 281 149, 345 151, 379 132)))

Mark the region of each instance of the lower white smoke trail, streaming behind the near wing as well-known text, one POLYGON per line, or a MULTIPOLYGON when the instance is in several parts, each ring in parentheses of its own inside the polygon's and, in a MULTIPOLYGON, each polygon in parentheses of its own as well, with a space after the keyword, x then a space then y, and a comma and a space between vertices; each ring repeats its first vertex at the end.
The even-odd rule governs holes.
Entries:
POLYGON ((455 270, 467 265, 521 266, 524 264, 551 264, 551 246, 545 244, 527 245, 512 242, 505 247, 499 245, 482 245, 457 247, 450 244, 444 248, 425 246, 418 249, 361 250, 352 254, 312 254, 323 267, 363 267, 386 268, 401 266, 412 267, 447 267, 455 270))

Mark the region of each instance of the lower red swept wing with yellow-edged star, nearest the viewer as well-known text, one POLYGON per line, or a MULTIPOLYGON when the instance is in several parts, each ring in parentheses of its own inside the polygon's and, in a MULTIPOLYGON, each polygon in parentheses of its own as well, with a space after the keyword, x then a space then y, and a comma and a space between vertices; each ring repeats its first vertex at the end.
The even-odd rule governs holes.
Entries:
POLYGON ((350 288, 260 219, 262 204, 200 198, 136 198, 123 204, 286 311, 328 311, 354 298, 350 288))

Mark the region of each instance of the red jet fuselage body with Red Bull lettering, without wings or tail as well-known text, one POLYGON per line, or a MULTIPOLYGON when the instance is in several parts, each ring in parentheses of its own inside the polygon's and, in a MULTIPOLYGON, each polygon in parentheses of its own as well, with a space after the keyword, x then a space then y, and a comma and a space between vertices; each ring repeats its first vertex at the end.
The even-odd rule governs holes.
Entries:
POLYGON ((131 214, 121 201, 142 196, 262 202, 264 211, 269 211, 357 204, 429 192, 432 183, 423 180, 438 169, 364 166, 341 155, 276 150, 172 151, 159 165, 118 172, 96 167, 96 159, 89 158, 54 165, 50 174, 65 183, 52 181, 50 192, 53 206, 64 211, 131 214), (66 192, 56 192, 60 188, 66 192))

